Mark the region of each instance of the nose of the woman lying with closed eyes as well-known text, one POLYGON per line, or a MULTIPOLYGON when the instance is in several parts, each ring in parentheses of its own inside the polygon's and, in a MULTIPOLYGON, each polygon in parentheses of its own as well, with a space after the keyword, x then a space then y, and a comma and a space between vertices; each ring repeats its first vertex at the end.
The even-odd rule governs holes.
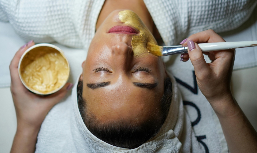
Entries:
POLYGON ((117 71, 128 70, 133 59, 132 47, 124 42, 119 42, 112 47, 113 60, 117 71))

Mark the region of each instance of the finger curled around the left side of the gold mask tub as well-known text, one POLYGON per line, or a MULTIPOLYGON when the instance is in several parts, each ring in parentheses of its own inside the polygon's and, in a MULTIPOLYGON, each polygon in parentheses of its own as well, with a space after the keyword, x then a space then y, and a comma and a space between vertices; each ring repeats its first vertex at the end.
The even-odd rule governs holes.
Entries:
POLYGON ((18 73, 18 65, 20 58, 22 54, 31 46, 33 46, 35 43, 30 41, 29 43, 25 44, 24 46, 20 47, 20 50, 16 52, 16 54, 13 57, 13 60, 10 63, 9 69, 10 69, 10 74, 11 74, 11 80, 12 80, 12 85, 19 87, 22 85, 20 78, 19 78, 19 73, 18 73))

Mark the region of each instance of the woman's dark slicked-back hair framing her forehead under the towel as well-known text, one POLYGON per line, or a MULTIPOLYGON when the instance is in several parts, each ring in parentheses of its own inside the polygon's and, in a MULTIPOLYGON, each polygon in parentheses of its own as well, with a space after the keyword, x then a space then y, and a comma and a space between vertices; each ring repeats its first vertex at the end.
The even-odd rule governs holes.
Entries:
POLYGON ((81 117, 88 130, 100 140, 123 148, 136 148, 153 138, 161 129, 169 112, 172 99, 172 83, 170 78, 164 80, 164 94, 160 100, 159 115, 141 123, 132 124, 130 121, 119 120, 102 123, 94 114, 87 112, 86 99, 82 97, 83 82, 77 86, 78 107, 81 117))

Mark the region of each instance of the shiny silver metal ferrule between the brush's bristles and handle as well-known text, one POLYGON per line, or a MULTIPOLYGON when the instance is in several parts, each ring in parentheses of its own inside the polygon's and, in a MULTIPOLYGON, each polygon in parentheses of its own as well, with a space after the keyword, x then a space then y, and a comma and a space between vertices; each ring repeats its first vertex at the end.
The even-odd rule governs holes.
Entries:
POLYGON ((187 46, 165 46, 162 49, 162 56, 188 53, 187 46))

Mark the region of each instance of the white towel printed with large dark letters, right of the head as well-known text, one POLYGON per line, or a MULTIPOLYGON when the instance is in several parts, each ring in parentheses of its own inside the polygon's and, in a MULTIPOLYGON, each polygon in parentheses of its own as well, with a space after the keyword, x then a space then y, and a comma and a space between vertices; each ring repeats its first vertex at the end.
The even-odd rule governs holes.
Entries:
MULTIPOLYGON (((210 62, 207 57, 205 59, 210 62)), ((228 152, 218 117, 197 86, 192 63, 181 62, 180 55, 176 55, 166 62, 166 67, 169 72, 173 73, 178 83, 184 108, 189 114, 196 138, 205 151, 228 152), (183 68, 180 65, 183 65, 183 68)))

